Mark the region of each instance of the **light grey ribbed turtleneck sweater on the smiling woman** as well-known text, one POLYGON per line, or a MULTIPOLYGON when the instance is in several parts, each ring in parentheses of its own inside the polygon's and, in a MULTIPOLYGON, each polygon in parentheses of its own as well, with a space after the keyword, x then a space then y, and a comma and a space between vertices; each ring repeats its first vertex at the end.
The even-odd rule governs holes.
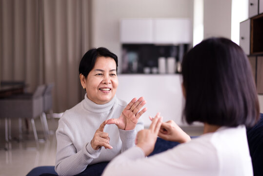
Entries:
POLYGON ((115 124, 104 127, 104 132, 109 134, 109 144, 113 149, 101 147, 99 150, 94 150, 90 144, 101 123, 107 119, 119 118, 126 105, 126 102, 116 96, 110 102, 98 105, 89 100, 85 94, 79 104, 63 113, 56 131, 55 170, 60 176, 77 175, 88 165, 110 161, 135 145, 136 134, 143 129, 141 120, 134 130, 129 131, 120 130, 115 124))

